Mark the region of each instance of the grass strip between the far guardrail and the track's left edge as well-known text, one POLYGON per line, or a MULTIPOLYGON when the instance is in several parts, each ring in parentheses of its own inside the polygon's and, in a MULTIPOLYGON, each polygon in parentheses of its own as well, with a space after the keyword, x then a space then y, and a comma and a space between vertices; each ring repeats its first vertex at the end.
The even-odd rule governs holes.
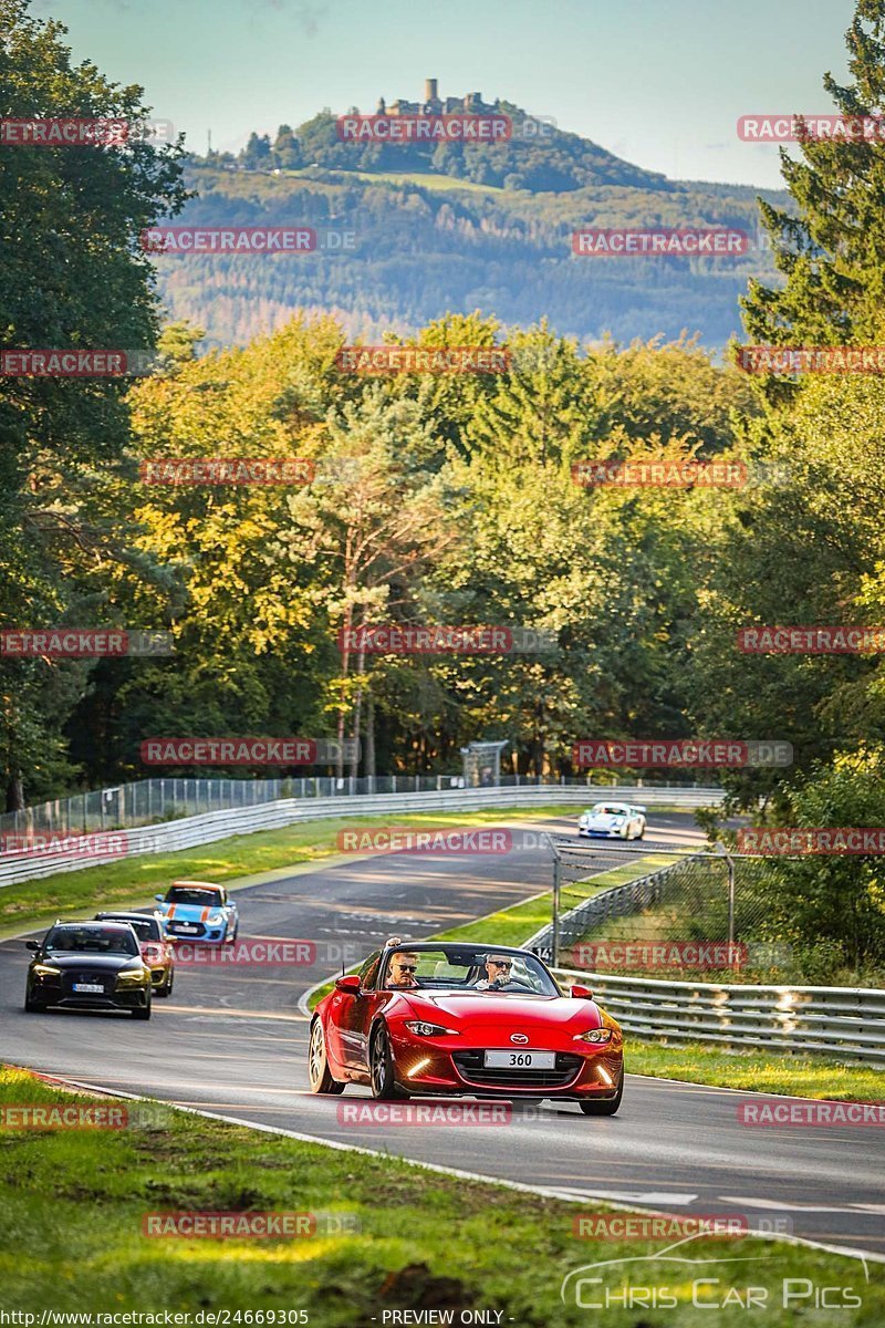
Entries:
POLYGON ((413 829, 490 825, 502 821, 537 821, 547 817, 576 815, 575 807, 551 805, 523 810, 520 807, 484 807, 482 811, 423 813, 415 815, 336 817, 322 821, 296 822, 281 830, 259 830, 248 835, 231 835, 215 843, 178 853, 146 854, 121 858, 118 862, 77 871, 60 871, 42 880, 27 880, 0 890, 0 934, 34 928, 54 922, 58 914, 97 910, 107 904, 145 903, 166 890, 170 880, 231 880, 252 876, 299 863, 336 857, 338 830, 372 826, 410 826, 413 829))

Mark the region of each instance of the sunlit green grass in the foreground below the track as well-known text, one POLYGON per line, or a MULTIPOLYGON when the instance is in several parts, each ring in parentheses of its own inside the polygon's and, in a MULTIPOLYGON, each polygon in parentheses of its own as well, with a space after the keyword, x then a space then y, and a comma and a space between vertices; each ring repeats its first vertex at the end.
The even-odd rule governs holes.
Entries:
MULTIPOLYGON (((94 1101, 109 1105, 107 1098, 73 1097, 32 1076, 0 1072, 4 1106, 94 1101)), ((127 1108, 134 1121, 126 1129, 0 1129, 3 1311, 161 1316, 204 1311, 202 1323, 211 1312, 239 1311, 239 1323, 252 1324, 295 1321, 271 1319, 271 1311, 304 1311, 310 1328, 379 1328, 386 1311, 433 1307, 452 1309, 455 1323, 462 1309, 482 1309, 500 1313, 504 1325, 585 1328, 596 1319, 573 1296, 560 1301, 563 1278, 596 1260, 651 1255, 608 1276, 604 1270, 606 1284, 620 1288, 626 1267, 637 1287, 671 1288, 678 1307, 662 1315, 612 1308, 605 1313, 610 1328, 640 1323, 703 1328, 710 1315, 691 1305, 693 1280, 716 1276, 718 1287, 701 1288, 707 1300, 714 1292, 722 1299, 730 1286, 764 1288, 766 1328, 795 1321, 795 1311, 782 1308, 785 1278, 851 1287, 861 1297, 858 1309, 809 1313, 821 1328, 885 1321, 882 1279, 868 1284, 862 1266, 843 1256, 750 1236, 705 1236, 679 1254, 751 1262, 674 1266, 659 1259, 671 1239, 576 1239, 576 1215, 592 1208, 598 1222, 602 1204, 579 1207, 155 1104, 127 1108), (330 1214, 356 1230, 288 1240, 142 1234, 146 1215, 184 1210, 330 1214), (247 1311, 263 1311, 263 1319, 247 1319, 247 1311)), ((588 1134, 598 1123, 588 1120, 588 1134)), ((715 1315, 726 1328, 746 1328, 748 1321, 738 1305, 715 1315)))

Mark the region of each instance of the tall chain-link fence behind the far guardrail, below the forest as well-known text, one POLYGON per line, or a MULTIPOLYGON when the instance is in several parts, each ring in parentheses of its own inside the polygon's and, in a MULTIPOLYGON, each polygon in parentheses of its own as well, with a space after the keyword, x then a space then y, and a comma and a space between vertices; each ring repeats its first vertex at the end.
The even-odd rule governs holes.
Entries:
MULTIPOLYGON (((705 772, 707 776, 709 772, 705 772)), ((703 786, 715 781, 709 777, 703 786)), ((621 781, 622 785, 629 781, 621 781)), ((589 777, 555 780, 531 774, 506 774, 495 788, 584 786, 597 789, 589 777)), ((636 786, 697 788, 686 781, 655 781, 636 786)), ((463 789, 463 774, 379 774, 373 777, 336 778, 304 776, 287 780, 186 780, 154 778, 137 784, 119 784, 110 789, 56 798, 21 811, 0 814, 0 835, 27 833, 94 834, 101 830, 126 830, 134 826, 175 821, 202 811, 224 811, 253 807, 280 798, 330 798, 375 793, 430 793, 463 789)))

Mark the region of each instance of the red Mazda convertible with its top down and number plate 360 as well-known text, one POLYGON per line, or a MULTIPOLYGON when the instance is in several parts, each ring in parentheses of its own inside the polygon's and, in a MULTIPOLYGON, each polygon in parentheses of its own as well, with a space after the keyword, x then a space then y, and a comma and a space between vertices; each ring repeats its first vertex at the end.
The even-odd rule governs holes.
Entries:
POLYGON ((624 1045, 586 987, 564 995, 525 950, 393 938, 317 1005, 308 1070, 312 1093, 366 1084, 378 1098, 560 1098, 614 1116, 624 1045))

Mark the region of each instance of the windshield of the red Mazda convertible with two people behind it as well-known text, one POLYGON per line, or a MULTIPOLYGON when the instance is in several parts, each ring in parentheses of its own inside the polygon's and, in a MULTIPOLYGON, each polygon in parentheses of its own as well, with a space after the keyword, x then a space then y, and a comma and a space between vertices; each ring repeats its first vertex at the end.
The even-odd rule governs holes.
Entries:
POLYGON ((455 950, 415 950, 398 955, 402 964, 395 972, 391 960, 397 956, 393 954, 389 956, 385 988, 407 988, 414 984, 464 995, 483 991, 520 996, 560 995, 555 981, 533 955, 495 951, 488 947, 468 950, 463 946, 455 950))

